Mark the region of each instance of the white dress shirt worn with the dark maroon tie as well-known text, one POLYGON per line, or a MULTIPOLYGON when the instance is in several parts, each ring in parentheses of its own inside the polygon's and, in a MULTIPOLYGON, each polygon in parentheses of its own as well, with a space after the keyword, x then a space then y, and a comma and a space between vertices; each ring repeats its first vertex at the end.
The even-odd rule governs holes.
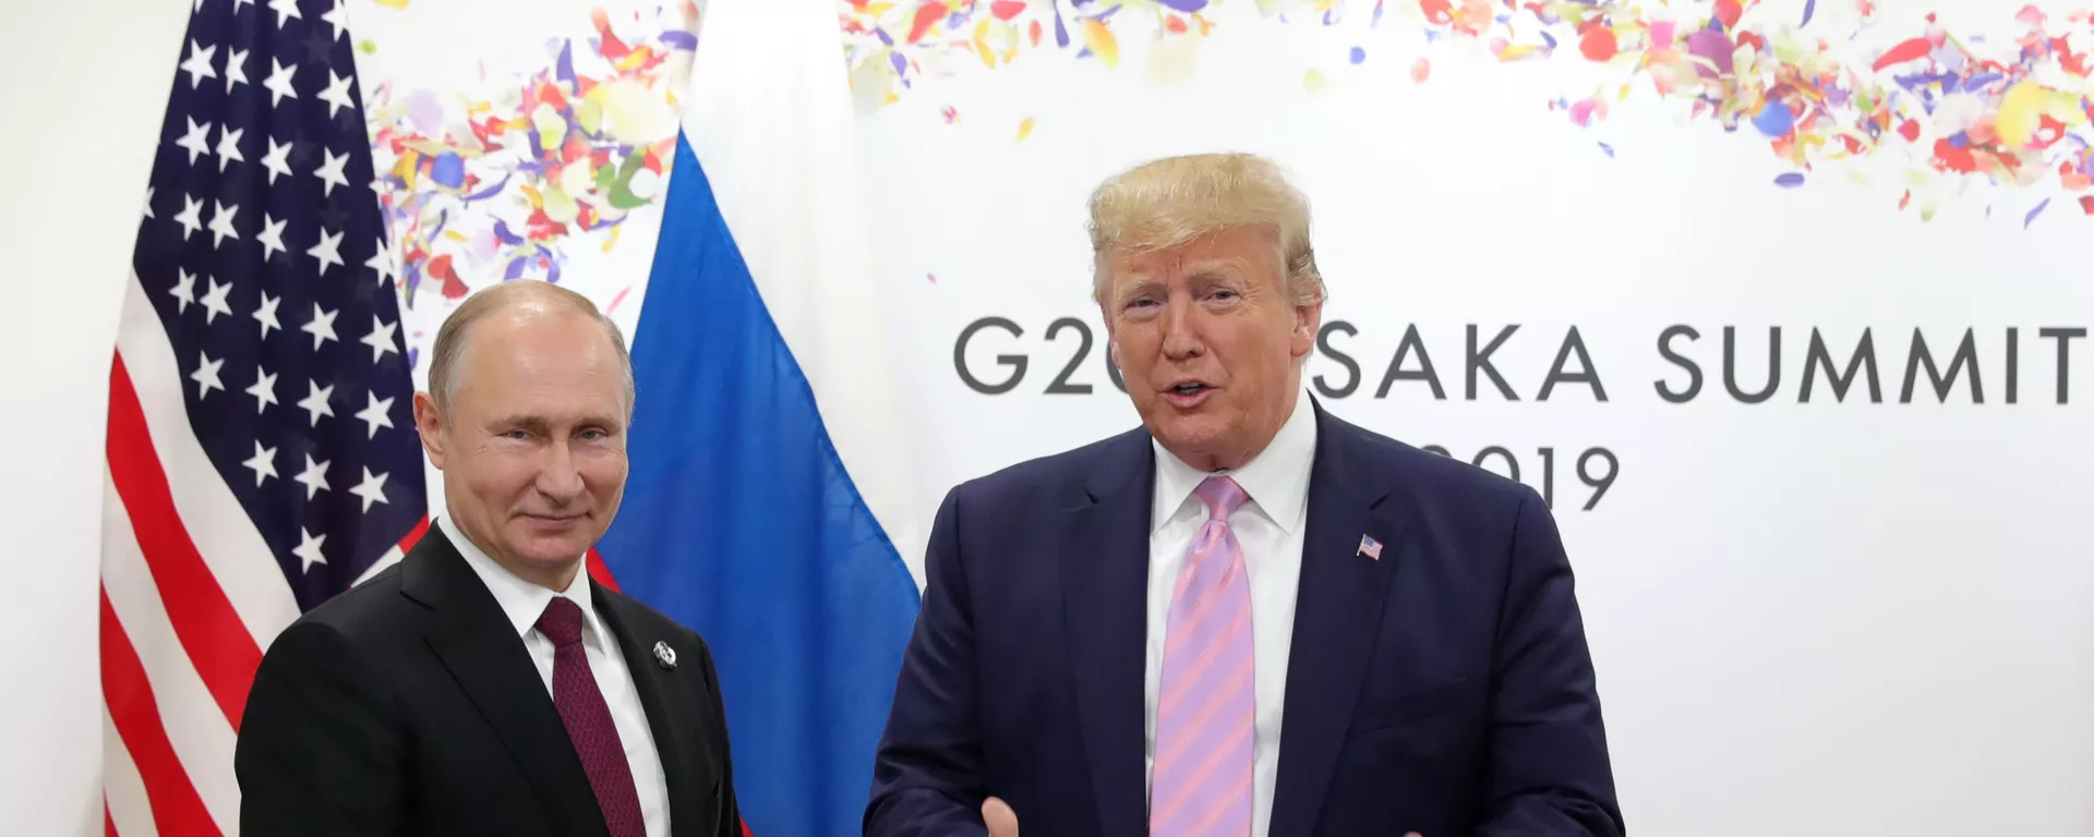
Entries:
MULTIPOLYGON (((547 695, 553 695, 553 640, 538 632, 538 617, 544 615, 544 607, 553 603, 555 592, 503 569, 480 546, 465 540, 448 519, 440 517, 436 525, 444 529, 444 538, 450 538, 450 544, 459 548, 465 563, 473 567, 480 582, 494 594, 494 603, 509 615, 517 636, 524 638, 524 649, 530 651, 532 663, 538 663, 538 680, 544 682, 547 695)), ((647 837, 668 837, 668 783, 662 778, 662 753, 655 751, 653 728, 647 726, 647 709, 641 705, 639 688, 632 686, 632 672, 626 668, 626 657, 618 651, 618 634, 611 634, 603 626, 591 603, 586 575, 586 571, 576 573, 574 584, 567 584, 567 590, 559 592, 559 596, 574 598, 582 607, 582 653, 588 659, 588 674, 597 678, 597 688, 603 691, 603 703, 611 707, 611 726, 618 728, 618 743, 626 747, 626 764, 632 768, 632 787, 641 797, 641 818, 647 820, 647 837)))

